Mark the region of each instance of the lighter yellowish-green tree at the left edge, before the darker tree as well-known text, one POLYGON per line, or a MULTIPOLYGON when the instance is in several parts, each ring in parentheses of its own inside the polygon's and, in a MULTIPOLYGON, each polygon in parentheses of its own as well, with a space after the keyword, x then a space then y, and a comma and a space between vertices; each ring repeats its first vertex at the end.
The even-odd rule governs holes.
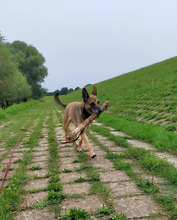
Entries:
POLYGON ((0 106, 20 102, 31 96, 31 86, 18 70, 18 64, 0 35, 0 106))

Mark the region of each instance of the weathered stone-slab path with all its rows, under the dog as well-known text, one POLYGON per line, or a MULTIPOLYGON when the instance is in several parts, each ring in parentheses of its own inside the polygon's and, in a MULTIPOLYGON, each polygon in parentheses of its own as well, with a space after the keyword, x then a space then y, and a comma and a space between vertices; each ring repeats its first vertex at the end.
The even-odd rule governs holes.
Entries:
MULTIPOLYGON (((58 140, 64 140, 61 118, 59 118, 59 115, 62 113, 56 108, 52 107, 51 109, 52 114, 50 114, 50 109, 44 110, 45 118, 41 122, 42 129, 40 132, 44 135, 49 135, 49 122, 53 120, 56 138, 58 140)), ((40 117, 38 117, 39 112, 37 112, 36 115, 38 119, 29 127, 31 130, 34 130, 40 123, 40 117)), ((27 124, 27 122, 25 123, 27 124)), ((24 127, 25 123, 23 125, 24 127)), ((101 123, 95 124, 97 126, 102 126, 101 123)), ((5 124, 3 126, 5 128, 5 124)), ((3 129, 3 127, 0 129, 3 129)), ((71 128, 71 130, 72 129, 73 128, 71 128)), ((115 136, 128 137, 127 141, 132 147, 151 150, 155 152, 158 157, 165 158, 177 167, 177 158, 175 156, 156 152, 153 146, 138 140, 133 140, 130 136, 122 132, 114 131, 112 128, 110 128, 110 131, 115 136)), ((4 147, 5 142, 8 141, 8 138, 13 138, 14 135, 15 133, 9 134, 7 140, 4 140, 4 142, 0 144, 0 183, 10 152, 8 148, 4 147)), ((10 183, 19 167, 18 161, 24 157, 26 151, 29 151, 29 147, 26 146, 26 143, 31 138, 31 135, 31 133, 24 134, 20 146, 14 154, 12 170, 6 179, 5 186, 10 183)), ((84 154, 79 154, 76 151, 75 144, 57 145, 58 160, 55 164, 55 169, 58 170, 59 174, 57 174, 57 177, 59 177, 59 180, 57 181, 62 185, 62 192, 65 194, 65 198, 55 205, 48 205, 52 144, 45 138, 39 138, 37 144, 30 149, 30 157, 32 159, 30 164, 27 165, 27 179, 23 185, 24 199, 19 205, 18 213, 15 213, 14 219, 62 219, 61 216, 66 214, 66 210, 76 208, 86 210, 90 214, 91 219, 104 220, 108 219, 108 217, 98 217, 96 212, 101 207, 108 206, 111 207, 114 214, 123 214, 128 219, 169 219, 168 214, 155 202, 153 196, 144 193, 137 187, 136 182, 127 175, 126 171, 116 169, 113 162, 106 159, 105 155, 107 155, 108 152, 121 155, 125 151, 125 148, 116 146, 114 142, 109 141, 107 138, 97 133, 91 132, 91 135, 95 138, 95 142, 90 141, 97 154, 97 157, 94 159, 85 157, 84 154, 88 155, 85 148, 84 154), (96 140, 100 142, 101 145, 99 145, 96 140), (83 156, 85 160, 81 158, 81 156, 83 156), (89 170, 91 170, 91 173, 88 172, 89 170)), ((139 167, 134 160, 124 159, 122 162, 131 164, 133 171, 138 175, 139 179, 150 180, 150 182, 157 184, 160 191, 168 193, 166 188, 164 190, 165 184, 168 184, 164 179, 147 173, 139 167)), ((113 219, 116 218, 112 218, 112 220, 113 219)))

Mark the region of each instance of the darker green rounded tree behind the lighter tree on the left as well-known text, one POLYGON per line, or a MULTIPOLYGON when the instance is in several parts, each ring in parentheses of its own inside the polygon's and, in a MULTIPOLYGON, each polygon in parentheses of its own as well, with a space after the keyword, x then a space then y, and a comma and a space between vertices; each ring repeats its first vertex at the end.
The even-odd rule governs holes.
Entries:
POLYGON ((20 72, 26 76, 28 84, 32 86, 33 98, 41 97, 45 89, 40 84, 48 75, 47 68, 44 66, 45 58, 35 47, 25 42, 14 41, 9 46, 18 62, 20 72))

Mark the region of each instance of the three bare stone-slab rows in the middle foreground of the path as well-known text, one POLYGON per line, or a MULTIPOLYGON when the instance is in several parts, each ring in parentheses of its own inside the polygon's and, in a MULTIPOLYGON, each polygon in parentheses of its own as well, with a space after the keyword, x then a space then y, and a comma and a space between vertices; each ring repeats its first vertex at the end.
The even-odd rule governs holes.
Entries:
MULTIPOLYGON (((48 130, 45 128, 48 118, 44 122, 42 132, 48 135, 48 130)), ((58 122, 56 115, 54 116, 57 127, 55 128, 57 139, 64 139, 64 133, 61 124, 58 122)), ((100 142, 102 142, 109 151, 113 153, 121 153, 124 148, 116 147, 113 142, 106 138, 92 133, 100 142)), ((159 207, 151 196, 143 193, 137 188, 136 184, 130 179, 124 171, 116 170, 113 164, 105 159, 106 152, 92 143, 97 157, 89 159, 89 164, 93 170, 96 170, 100 177, 100 182, 110 191, 110 197, 105 198, 91 192, 94 182, 89 180, 89 176, 84 171, 78 172, 82 167, 83 161, 78 160, 78 152, 75 145, 58 145, 60 183, 63 186, 63 191, 66 194, 65 199, 58 205, 61 209, 60 215, 64 215, 66 210, 70 208, 84 209, 90 215, 91 219, 100 219, 96 217, 96 211, 111 202, 112 208, 117 214, 124 214, 128 219, 154 219, 166 220, 168 217, 164 210, 159 207), (76 183, 79 178, 85 179, 84 182, 76 183), (158 217, 161 216, 161 217, 158 217)), ((20 151, 25 148, 19 149, 20 151)), ((84 151, 87 153, 87 151, 84 151)), ((49 171, 49 142, 45 138, 40 139, 38 146, 32 152, 33 160, 28 166, 28 181, 24 186, 27 194, 22 204, 23 210, 16 216, 17 220, 53 220, 60 219, 56 217, 54 212, 49 212, 47 208, 34 208, 34 204, 42 203, 47 199, 48 192, 46 191, 49 185, 47 173, 49 171), (32 170, 32 167, 39 166, 39 170, 32 170), (36 178, 37 177, 37 178, 36 178)), ((132 162, 132 161, 131 161, 132 162)), ((107 219, 102 217, 101 219, 107 219)))

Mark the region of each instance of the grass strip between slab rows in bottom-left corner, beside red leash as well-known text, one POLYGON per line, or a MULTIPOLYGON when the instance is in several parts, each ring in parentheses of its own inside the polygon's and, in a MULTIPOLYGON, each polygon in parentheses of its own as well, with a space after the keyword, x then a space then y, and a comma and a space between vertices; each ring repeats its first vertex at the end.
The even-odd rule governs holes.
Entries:
MULTIPOLYGON (((42 119, 43 115, 41 115, 40 123, 34 128, 33 134, 30 135, 29 141, 26 143, 29 148, 32 148, 39 141, 38 132, 42 126, 42 119)), ((12 214, 20 209, 20 203, 26 194, 23 186, 27 179, 27 165, 30 164, 31 160, 31 151, 26 151, 10 183, 1 192, 0 216, 4 219, 12 219, 12 214)))

